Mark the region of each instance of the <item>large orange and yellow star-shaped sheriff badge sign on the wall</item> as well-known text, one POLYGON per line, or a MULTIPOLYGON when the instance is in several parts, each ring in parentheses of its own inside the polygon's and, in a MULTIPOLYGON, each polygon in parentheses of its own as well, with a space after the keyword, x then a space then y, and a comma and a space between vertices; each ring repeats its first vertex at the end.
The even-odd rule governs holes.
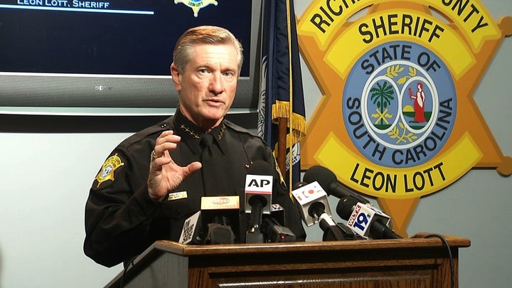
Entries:
POLYGON ((512 18, 480 1, 311 1, 299 46, 325 93, 302 168, 320 164, 374 196, 405 235, 419 198, 474 167, 512 174, 472 93, 512 18), (400 220, 400 222, 395 222, 400 220))

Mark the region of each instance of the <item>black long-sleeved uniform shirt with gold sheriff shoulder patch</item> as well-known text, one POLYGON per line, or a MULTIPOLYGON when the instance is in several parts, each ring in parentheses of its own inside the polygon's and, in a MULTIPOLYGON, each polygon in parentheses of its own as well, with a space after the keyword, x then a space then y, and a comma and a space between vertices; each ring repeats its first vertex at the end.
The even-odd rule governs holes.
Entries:
MULTIPOLYGON (((259 160, 270 165, 277 179, 272 203, 284 208, 284 226, 292 230, 297 240, 305 240, 299 212, 280 180, 272 151, 262 139, 224 120, 210 132, 214 159, 204 160, 203 134, 177 110, 173 117, 137 132, 112 151, 92 183, 85 206, 87 256, 111 267, 139 255, 156 240, 178 241, 186 218, 201 210, 202 196, 238 195, 240 203, 244 203, 247 169, 259 160), (186 166, 201 161, 203 168, 169 192, 178 197, 166 197, 159 202, 149 197, 147 177, 156 138, 169 129, 181 136, 177 148, 170 151, 176 164, 186 166)), ((240 215, 240 231, 245 231, 247 219, 243 210, 240 215)), ((235 236, 237 242, 245 242, 245 233, 235 236)))

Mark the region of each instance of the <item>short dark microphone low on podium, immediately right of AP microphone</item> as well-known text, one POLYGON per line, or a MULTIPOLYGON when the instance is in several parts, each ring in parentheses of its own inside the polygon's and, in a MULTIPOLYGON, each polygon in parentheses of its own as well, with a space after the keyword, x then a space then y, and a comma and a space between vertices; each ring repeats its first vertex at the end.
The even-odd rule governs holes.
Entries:
POLYGON ((294 242, 295 234, 282 223, 284 219, 284 208, 279 204, 272 204, 270 215, 263 217, 261 231, 265 236, 265 242, 294 242))

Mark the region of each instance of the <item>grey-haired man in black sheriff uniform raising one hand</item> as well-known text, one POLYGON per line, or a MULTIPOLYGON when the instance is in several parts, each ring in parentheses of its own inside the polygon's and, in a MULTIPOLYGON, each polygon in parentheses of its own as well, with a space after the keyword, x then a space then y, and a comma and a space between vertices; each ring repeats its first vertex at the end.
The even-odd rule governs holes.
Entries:
MULTIPOLYGON (((268 163, 276 179, 272 202, 284 208, 282 225, 305 240, 270 148, 224 119, 242 67, 240 42, 224 28, 191 28, 178 39, 173 56, 176 114, 125 139, 103 164, 85 206, 85 254, 112 267, 156 240, 178 241, 184 221, 201 210, 201 197, 243 197, 255 161, 268 163)), ((242 210, 240 215, 235 238, 245 242, 247 215, 242 210)))

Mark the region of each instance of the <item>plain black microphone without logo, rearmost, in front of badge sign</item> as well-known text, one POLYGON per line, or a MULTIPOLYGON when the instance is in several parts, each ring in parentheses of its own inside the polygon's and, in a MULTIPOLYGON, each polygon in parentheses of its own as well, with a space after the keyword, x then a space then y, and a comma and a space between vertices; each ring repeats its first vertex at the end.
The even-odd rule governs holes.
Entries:
POLYGON ((326 169, 324 166, 312 166, 306 171, 306 173, 304 173, 304 181, 307 183, 317 181, 320 186, 326 189, 326 192, 329 195, 332 195, 336 198, 341 199, 343 197, 352 197, 356 198, 361 203, 370 203, 362 196, 359 196, 358 193, 352 191, 346 186, 343 186, 343 184, 336 178, 336 174, 334 174, 331 170, 326 169))

